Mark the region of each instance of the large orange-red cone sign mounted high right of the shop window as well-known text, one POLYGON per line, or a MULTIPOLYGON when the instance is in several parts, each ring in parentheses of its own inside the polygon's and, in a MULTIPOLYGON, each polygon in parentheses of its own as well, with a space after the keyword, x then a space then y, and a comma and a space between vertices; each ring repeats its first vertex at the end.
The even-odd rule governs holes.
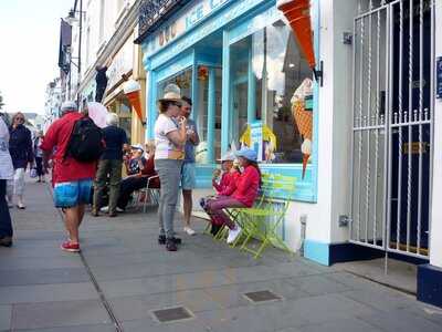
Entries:
POLYGON ((278 0, 276 7, 288 20, 296 35, 299 49, 303 51, 311 69, 315 71, 316 61, 313 48, 309 0, 278 0))

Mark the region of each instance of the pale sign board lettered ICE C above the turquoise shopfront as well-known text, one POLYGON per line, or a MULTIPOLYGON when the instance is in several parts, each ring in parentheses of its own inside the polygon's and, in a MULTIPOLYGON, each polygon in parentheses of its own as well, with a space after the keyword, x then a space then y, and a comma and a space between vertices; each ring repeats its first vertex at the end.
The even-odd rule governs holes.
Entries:
POLYGON ((194 1, 193 6, 190 7, 181 17, 171 21, 155 35, 148 50, 149 53, 167 45, 178 35, 194 27, 199 21, 211 14, 228 1, 229 0, 194 1))

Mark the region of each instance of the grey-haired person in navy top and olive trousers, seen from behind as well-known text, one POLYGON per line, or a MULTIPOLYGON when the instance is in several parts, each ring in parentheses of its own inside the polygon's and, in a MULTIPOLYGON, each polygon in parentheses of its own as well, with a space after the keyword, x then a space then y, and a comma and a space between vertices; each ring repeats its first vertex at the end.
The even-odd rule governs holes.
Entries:
POLYGON ((107 127, 103 129, 105 151, 98 162, 98 170, 94 184, 94 206, 92 215, 97 217, 102 206, 103 191, 109 175, 109 217, 117 215, 119 184, 122 181, 123 149, 128 149, 126 132, 118 127, 118 115, 109 113, 107 127))

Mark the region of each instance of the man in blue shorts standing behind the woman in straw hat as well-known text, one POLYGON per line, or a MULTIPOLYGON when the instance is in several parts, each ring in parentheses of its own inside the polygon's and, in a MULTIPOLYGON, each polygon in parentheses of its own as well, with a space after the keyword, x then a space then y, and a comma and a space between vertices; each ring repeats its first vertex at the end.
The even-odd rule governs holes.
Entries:
POLYGON ((196 123, 189 118, 192 111, 191 98, 183 96, 181 116, 187 118, 187 142, 185 146, 185 160, 181 169, 182 205, 185 210, 185 231, 192 236, 194 230, 190 228, 192 214, 192 189, 196 187, 194 176, 194 147, 200 143, 196 123))

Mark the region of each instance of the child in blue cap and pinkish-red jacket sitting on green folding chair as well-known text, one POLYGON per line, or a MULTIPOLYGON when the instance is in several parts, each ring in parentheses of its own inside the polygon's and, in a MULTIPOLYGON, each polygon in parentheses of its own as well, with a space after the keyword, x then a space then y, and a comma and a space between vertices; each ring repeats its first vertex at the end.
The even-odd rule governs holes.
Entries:
POLYGON ((241 227, 223 211, 225 208, 252 207, 261 186, 261 170, 256 162, 256 153, 248 147, 236 153, 240 166, 243 169, 229 187, 212 199, 206 200, 203 208, 212 220, 212 225, 229 227, 228 243, 233 243, 241 235, 241 227))

